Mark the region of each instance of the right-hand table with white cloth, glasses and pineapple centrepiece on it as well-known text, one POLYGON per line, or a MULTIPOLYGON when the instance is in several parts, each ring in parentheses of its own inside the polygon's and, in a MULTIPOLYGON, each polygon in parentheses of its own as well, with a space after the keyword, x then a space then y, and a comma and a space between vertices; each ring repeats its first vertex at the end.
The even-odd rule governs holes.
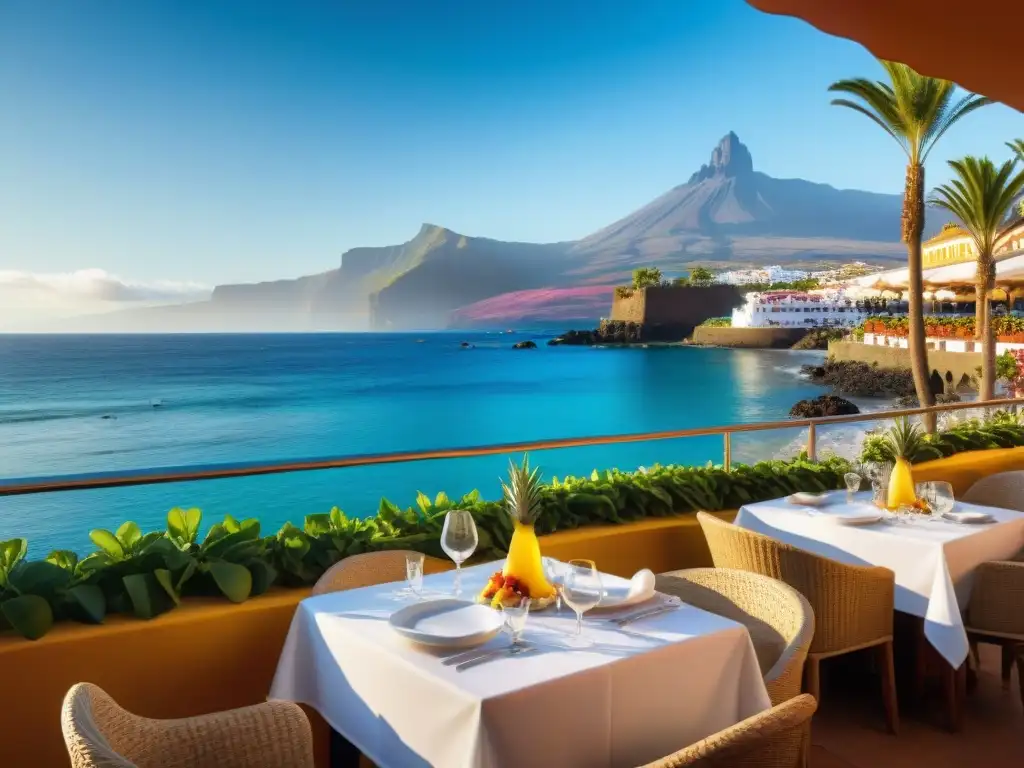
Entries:
POLYGON ((896 609, 924 618, 925 637, 956 669, 969 653, 962 608, 973 571, 1024 547, 1024 514, 956 500, 949 483, 914 483, 909 473, 894 495, 886 469, 867 473, 870 490, 850 473, 845 490, 744 505, 734 522, 834 560, 888 567, 896 609))

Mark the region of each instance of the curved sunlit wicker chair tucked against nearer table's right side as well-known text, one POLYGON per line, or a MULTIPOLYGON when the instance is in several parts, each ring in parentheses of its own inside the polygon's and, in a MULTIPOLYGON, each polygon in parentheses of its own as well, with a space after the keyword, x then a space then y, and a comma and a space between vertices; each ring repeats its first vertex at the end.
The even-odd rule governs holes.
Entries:
POLYGON ((658 592, 746 627, 773 705, 800 695, 814 635, 807 598, 775 579, 728 568, 691 568, 657 577, 658 592))

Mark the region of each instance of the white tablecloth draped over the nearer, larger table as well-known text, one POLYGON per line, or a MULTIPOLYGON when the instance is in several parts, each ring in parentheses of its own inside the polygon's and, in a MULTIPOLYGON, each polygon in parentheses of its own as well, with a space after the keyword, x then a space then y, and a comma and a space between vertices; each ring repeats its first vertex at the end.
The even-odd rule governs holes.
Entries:
MULTIPOLYGON (((499 567, 464 570, 466 594, 499 567)), ((452 574, 425 581, 450 590, 452 574)), ((390 629, 408 604, 395 587, 299 603, 269 696, 309 705, 384 768, 636 766, 769 707, 746 629, 692 606, 627 630, 595 613, 584 649, 565 645, 571 611, 552 607, 527 623, 538 652, 456 672, 390 629)))

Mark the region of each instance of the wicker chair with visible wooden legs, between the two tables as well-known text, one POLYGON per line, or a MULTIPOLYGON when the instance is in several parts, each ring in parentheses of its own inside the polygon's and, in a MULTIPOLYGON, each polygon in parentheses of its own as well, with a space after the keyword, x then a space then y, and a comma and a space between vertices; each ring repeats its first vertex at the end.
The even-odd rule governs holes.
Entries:
POLYGON ((716 567, 762 573, 785 582, 814 610, 814 638, 805 666, 805 689, 820 699, 821 659, 876 648, 882 672, 886 723, 899 730, 893 667, 895 574, 888 568, 847 565, 738 525, 697 513, 716 567))

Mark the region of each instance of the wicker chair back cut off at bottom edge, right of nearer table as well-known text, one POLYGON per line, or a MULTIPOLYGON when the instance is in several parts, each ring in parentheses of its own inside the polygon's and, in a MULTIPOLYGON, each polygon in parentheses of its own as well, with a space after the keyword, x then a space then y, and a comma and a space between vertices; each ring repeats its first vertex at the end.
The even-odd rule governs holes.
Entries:
POLYGON ((797 768, 817 706, 806 693, 791 698, 644 768, 797 768))

